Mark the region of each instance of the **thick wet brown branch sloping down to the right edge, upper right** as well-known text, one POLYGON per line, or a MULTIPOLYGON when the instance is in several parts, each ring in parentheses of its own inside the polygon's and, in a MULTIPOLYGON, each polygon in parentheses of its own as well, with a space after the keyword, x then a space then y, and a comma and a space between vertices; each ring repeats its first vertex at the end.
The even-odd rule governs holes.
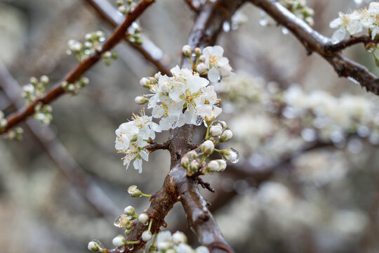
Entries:
MULTIPOLYGON (((315 30, 313 30, 307 23, 300 18, 296 18, 293 13, 288 11, 284 6, 277 1, 270 0, 249 0, 251 3, 258 6, 280 25, 284 25, 290 30, 293 35, 305 46, 308 54, 312 52, 319 53, 320 56, 325 58, 337 72, 340 77, 347 77, 359 82, 359 84, 379 96, 379 79, 375 77, 366 67, 355 63, 341 55, 340 51, 335 51, 331 39, 324 37, 315 30)), ((362 39, 363 40, 363 39, 362 39)), ((350 43, 353 43, 350 42, 350 43)), ((353 44, 359 43, 354 41, 353 44)), ((343 48, 343 46, 340 46, 343 48)))

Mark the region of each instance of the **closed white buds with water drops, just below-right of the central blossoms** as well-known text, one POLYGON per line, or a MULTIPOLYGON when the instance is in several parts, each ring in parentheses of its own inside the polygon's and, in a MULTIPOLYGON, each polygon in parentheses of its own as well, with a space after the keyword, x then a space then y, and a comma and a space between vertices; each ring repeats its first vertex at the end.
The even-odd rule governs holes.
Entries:
POLYGON ((225 150, 218 150, 215 148, 215 144, 230 141, 233 134, 227 124, 223 121, 214 120, 215 117, 204 116, 206 121, 206 141, 199 145, 199 148, 189 151, 183 155, 180 160, 180 164, 187 171, 187 176, 193 176, 194 174, 209 175, 214 172, 221 172, 226 169, 226 162, 236 163, 239 161, 239 153, 234 148, 227 148, 225 150), (222 155, 223 159, 211 160, 206 162, 206 158, 216 151, 222 155))

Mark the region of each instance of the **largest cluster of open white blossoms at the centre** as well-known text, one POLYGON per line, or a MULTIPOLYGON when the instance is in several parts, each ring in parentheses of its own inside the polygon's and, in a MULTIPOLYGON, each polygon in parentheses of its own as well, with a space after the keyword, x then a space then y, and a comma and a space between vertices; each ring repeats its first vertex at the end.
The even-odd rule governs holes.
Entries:
POLYGON ((152 94, 147 108, 152 108, 152 117, 159 118, 162 130, 184 124, 201 124, 197 107, 218 103, 213 86, 199 74, 176 66, 172 77, 158 75, 150 85, 152 94))

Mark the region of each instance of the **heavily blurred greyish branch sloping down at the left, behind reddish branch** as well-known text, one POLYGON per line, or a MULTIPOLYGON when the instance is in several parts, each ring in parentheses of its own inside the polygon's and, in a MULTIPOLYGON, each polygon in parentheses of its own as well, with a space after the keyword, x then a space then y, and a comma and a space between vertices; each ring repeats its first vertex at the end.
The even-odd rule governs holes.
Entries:
MULTIPOLYGON (((6 66, 0 60, 0 87, 6 96, 11 100, 15 108, 22 107, 20 98, 21 87, 8 72, 6 66)), ((41 128, 41 125, 33 119, 27 119, 27 128, 44 148, 51 160, 57 165, 67 179, 74 185, 87 202, 107 221, 113 221, 117 215, 118 207, 105 195, 105 193, 93 183, 91 177, 86 174, 74 158, 69 155, 62 143, 55 138, 54 131, 48 126, 41 128)))

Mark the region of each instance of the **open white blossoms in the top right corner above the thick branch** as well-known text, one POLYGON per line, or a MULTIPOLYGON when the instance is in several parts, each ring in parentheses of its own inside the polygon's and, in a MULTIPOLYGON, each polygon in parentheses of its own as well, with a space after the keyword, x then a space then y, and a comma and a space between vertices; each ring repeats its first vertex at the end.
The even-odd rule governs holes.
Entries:
POLYGON ((351 13, 339 13, 339 17, 331 21, 330 27, 337 29, 332 36, 332 42, 338 43, 343 39, 354 36, 364 29, 368 30, 371 38, 379 33, 379 2, 371 2, 368 8, 354 10, 351 13))

